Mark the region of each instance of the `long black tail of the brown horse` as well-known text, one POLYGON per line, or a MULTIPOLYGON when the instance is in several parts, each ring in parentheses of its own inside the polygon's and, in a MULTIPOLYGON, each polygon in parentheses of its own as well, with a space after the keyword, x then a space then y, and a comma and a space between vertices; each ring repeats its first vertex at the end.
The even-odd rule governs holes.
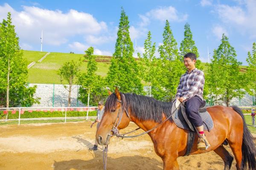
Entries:
POLYGON ((242 161, 244 163, 244 170, 247 169, 247 166, 249 170, 256 170, 256 148, 253 142, 253 135, 250 133, 245 123, 241 109, 237 106, 233 106, 232 109, 238 112, 243 119, 244 133, 242 143, 242 161))

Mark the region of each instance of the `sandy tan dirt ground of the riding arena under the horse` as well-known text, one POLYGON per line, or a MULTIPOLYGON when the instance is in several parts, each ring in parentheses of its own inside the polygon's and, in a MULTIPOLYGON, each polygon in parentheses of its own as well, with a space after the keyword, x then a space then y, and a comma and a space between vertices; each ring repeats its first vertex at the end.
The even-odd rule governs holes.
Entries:
MULTIPOLYGON (((1 170, 103 170, 102 147, 93 152, 96 126, 91 122, 0 126, 1 170)), ((134 123, 123 130, 128 132, 134 123)), ((142 132, 142 131, 140 131, 142 132)), ((231 152, 230 148, 227 150, 231 152)), ((180 170, 222 170, 224 163, 214 152, 179 157, 180 170)), ((161 170, 163 162, 154 152, 148 135, 117 139, 109 145, 108 170, 161 170)), ((231 170, 235 170, 235 161, 231 170)))

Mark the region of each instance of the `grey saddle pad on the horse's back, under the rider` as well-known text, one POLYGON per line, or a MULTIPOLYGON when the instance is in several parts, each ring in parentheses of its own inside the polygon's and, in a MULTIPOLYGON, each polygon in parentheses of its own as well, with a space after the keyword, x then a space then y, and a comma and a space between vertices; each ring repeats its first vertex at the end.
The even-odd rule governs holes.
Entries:
MULTIPOLYGON (((172 112, 175 110, 175 102, 172 105, 172 112)), ((180 121, 180 115, 181 114, 178 112, 178 109, 175 110, 175 112, 172 114, 172 120, 174 121, 174 123, 177 125, 177 127, 180 127, 182 129, 186 129, 189 130, 189 127, 187 126, 187 124, 185 122, 180 121)), ((209 112, 199 112, 199 115, 201 115, 201 118, 203 120, 203 124, 204 124, 204 130, 212 130, 212 128, 214 127, 213 121, 212 121, 212 117, 210 116, 209 112), (207 128, 208 127, 208 128, 207 128)))

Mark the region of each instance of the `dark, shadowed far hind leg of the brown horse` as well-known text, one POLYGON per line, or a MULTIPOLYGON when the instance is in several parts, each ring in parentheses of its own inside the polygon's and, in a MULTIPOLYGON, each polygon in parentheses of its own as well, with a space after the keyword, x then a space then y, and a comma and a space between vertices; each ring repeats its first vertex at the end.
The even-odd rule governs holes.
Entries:
POLYGON ((222 145, 217 147, 214 152, 217 153, 224 161, 224 170, 230 170, 232 161, 234 159, 233 156, 230 155, 230 153, 222 145))

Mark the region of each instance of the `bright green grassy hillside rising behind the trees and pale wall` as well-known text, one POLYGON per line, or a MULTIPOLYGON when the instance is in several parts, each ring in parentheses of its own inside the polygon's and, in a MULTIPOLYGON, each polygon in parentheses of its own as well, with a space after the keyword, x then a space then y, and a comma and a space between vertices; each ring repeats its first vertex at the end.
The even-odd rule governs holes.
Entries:
MULTIPOLYGON (((59 53, 51 52, 47 57, 41 62, 37 62, 42 58, 47 52, 36 52, 36 51, 26 51, 24 50, 23 56, 27 59, 28 64, 35 61, 35 65, 29 69, 29 83, 38 84, 61 84, 60 78, 57 75, 58 69, 67 61, 83 61, 81 64, 81 72, 86 71, 87 62, 84 61, 83 54, 69 54, 69 53, 59 53)), ((105 77, 107 75, 110 66, 110 56, 97 55, 97 74, 105 77)), ((202 63, 203 70, 207 70, 206 63, 202 63)), ((241 66, 241 71, 246 71, 247 66, 241 66)), ((243 73, 242 72, 242 73, 243 73)), ((67 84, 67 82, 65 82, 67 84)), ((144 85, 145 82, 142 82, 144 85)))

